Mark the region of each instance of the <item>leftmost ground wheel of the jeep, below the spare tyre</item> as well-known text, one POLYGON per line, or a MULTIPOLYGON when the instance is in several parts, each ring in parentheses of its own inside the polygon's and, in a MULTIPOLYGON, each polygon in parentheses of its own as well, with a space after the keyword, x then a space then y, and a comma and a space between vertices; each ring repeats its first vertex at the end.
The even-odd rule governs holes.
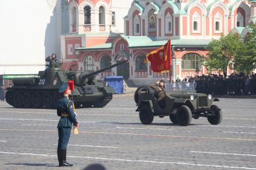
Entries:
POLYGON ((139 120, 144 125, 150 125, 153 122, 154 115, 151 111, 151 108, 148 104, 142 105, 139 108, 139 120))

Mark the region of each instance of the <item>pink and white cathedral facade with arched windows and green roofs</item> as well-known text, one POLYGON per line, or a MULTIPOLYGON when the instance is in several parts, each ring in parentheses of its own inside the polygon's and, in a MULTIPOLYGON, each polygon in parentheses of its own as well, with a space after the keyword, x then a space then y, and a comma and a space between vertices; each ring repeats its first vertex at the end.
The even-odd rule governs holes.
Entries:
POLYGON ((144 59, 171 38, 172 78, 203 75, 207 69, 201 60, 212 38, 229 32, 243 37, 248 24, 256 21, 254 0, 134 0, 123 17, 122 30, 115 24, 112 4, 111 0, 70 1, 70 34, 61 41, 64 69, 94 71, 128 59, 129 64, 98 76, 123 75, 135 84, 168 79, 169 71, 153 72, 144 59))

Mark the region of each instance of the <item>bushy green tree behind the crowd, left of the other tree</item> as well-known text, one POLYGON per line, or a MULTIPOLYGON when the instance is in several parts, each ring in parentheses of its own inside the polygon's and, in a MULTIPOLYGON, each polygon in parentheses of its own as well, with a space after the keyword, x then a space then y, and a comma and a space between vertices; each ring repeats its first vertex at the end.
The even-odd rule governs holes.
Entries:
POLYGON ((243 42, 237 34, 221 35, 219 40, 212 40, 207 45, 209 53, 203 59, 203 65, 209 71, 220 70, 224 76, 227 77, 227 68, 233 68, 234 58, 237 56, 239 49, 242 47, 243 42))

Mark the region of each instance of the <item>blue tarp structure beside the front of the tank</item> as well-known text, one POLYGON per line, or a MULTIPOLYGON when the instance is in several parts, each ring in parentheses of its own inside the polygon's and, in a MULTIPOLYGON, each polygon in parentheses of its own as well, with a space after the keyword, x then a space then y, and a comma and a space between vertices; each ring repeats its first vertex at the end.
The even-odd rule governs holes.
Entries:
POLYGON ((115 93, 123 93, 123 76, 106 76, 105 86, 115 89, 115 93))

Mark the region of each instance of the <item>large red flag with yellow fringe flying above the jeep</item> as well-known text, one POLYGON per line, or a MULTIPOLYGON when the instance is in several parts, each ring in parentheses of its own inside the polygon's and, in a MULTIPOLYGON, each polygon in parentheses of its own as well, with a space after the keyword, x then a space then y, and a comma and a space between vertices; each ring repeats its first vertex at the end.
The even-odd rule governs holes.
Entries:
POLYGON ((171 38, 160 48, 147 54, 145 62, 150 61, 154 72, 162 72, 171 68, 171 38))

